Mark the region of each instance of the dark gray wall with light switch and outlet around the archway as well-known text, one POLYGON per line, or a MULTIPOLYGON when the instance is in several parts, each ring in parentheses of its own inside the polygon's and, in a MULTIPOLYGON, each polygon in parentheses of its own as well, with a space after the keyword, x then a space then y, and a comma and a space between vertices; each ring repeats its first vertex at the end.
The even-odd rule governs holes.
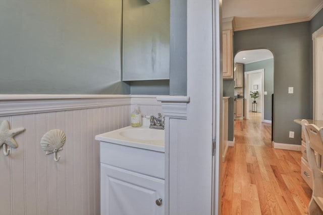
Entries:
POLYGON ((234 33, 234 53, 267 48, 274 53, 274 141, 299 145, 300 126, 296 118, 310 118, 310 24, 301 22, 234 33), (294 94, 288 94, 294 87, 294 94), (289 138, 295 131, 295 138, 289 138))

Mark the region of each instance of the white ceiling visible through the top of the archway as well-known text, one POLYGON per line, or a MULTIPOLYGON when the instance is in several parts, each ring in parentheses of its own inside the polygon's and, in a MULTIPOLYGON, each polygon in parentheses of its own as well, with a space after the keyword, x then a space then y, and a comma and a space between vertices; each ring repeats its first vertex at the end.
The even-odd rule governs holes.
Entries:
POLYGON ((274 58, 273 53, 268 49, 254 49, 254 50, 246 50, 240 51, 234 57, 235 63, 252 63, 260 60, 266 60, 274 58), (243 59, 245 58, 245 59, 243 59))

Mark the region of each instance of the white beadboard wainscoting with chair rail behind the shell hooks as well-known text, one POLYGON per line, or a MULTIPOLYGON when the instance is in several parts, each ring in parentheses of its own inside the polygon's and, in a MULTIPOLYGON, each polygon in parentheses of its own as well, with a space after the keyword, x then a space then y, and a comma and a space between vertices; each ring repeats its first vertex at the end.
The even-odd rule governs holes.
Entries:
MULTIPOLYGON (((135 98, 141 105, 140 96, 135 98)), ((158 109, 155 97, 142 98, 145 111, 158 109)), ((99 214, 99 142, 94 136, 128 126, 132 103, 130 95, 0 94, 0 121, 26 128, 14 137, 17 149, 7 157, 0 151, 0 214, 99 214), (51 129, 66 133, 58 162, 40 146, 51 129)))

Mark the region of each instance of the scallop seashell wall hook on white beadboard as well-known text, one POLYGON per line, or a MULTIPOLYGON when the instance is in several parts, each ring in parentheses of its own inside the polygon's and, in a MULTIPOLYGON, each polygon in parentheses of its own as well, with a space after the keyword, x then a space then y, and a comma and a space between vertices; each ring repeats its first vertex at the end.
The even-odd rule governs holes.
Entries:
POLYGON ((57 158, 58 151, 63 150, 63 146, 66 141, 66 135, 63 130, 53 129, 45 133, 40 140, 40 146, 46 155, 51 153, 54 154, 54 160, 57 162, 60 160, 61 156, 57 158))

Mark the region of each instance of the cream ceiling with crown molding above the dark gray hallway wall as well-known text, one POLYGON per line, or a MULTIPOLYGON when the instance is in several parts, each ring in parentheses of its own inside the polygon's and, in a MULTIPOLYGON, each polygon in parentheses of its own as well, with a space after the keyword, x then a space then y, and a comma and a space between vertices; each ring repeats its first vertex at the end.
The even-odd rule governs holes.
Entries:
POLYGON ((222 17, 240 31, 309 21, 322 8, 323 0, 223 0, 222 17))

